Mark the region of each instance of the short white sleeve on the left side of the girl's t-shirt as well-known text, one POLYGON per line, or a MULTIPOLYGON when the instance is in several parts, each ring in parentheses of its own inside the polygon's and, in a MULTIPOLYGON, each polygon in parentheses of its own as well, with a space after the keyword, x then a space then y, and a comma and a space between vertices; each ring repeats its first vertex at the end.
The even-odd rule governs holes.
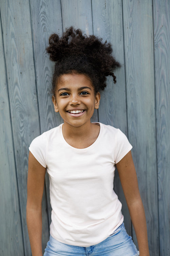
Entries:
POLYGON ((46 164, 46 152, 47 152, 47 136, 45 132, 40 136, 36 137, 30 144, 29 151, 37 159, 37 161, 43 166, 47 167, 46 164))

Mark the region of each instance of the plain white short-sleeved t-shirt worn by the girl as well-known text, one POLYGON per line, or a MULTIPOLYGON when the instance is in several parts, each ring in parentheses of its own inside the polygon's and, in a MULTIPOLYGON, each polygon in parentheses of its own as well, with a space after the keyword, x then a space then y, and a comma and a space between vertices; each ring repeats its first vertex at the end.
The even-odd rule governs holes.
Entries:
POLYGON ((49 174, 50 234, 65 244, 98 244, 123 223, 113 180, 115 164, 132 146, 119 129, 99 124, 99 136, 87 148, 70 146, 62 124, 35 138, 29 147, 49 174))

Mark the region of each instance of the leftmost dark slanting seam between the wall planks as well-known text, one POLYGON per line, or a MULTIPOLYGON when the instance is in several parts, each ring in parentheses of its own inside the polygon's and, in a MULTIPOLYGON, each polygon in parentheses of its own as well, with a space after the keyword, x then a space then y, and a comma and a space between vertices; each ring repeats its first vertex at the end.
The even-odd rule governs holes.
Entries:
MULTIPOLYGON (((0 22, 1 22, 1 31, 2 31, 2 47, 3 47, 3 53, 4 53, 7 97, 8 97, 9 111, 10 111, 10 124, 11 124, 11 132, 12 132, 12 146, 13 146, 13 152, 15 152, 14 136, 13 136, 13 126, 12 126, 12 116, 11 116, 10 94, 9 94, 9 87, 8 87, 8 80, 7 80, 7 68, 6 68, 6 58, 5 58, 5 48, 4 48, 2 18, 1 18, 1 7, 0 7, 0 22)), ((14 153, 14 165, 15 165, 15 176, 16 176, 16 184, 17 184, 18 203, 19 203, 19 216, 20 216, 20 222, 21 222, 22 244, 23 244, 24 256, 26 256, 26 247, 25 247, 24 235, 23 235, 23 223, 22 223, 22 217, 21 217, 21 203, 20 203, 20 196, 19 196, 19 186, 18 186, 18 179, 17 179, 17 165, 16 165, 15 153, 14 153)))

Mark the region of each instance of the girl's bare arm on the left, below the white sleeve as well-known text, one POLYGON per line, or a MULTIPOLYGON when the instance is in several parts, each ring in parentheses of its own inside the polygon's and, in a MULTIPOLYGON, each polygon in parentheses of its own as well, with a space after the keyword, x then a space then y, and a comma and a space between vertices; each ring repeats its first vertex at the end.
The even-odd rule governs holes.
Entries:
POLYGON ((30 152, 27 181, 27 227, 32 256, 43 256, 41 201, 45 174, 46 168, 41 166, 30 152))

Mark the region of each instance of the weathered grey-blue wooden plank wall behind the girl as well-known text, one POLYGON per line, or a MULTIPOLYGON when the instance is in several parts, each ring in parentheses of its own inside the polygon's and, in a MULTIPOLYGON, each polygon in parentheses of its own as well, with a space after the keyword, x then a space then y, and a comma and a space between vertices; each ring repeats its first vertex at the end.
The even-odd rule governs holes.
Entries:
MULTIPOLYGON (((151 256, 170 255, 170 1, 0 1, 0 255, 30 256, 26 224, 28 147, 62 123, 49 86, 49 35, 70 25, 111 42, 121 62, 93 121, 120 128, 146 211, 151 256)), ((125 226, 136 237, 118 175, 125 226)), ((43 249, 49 238, 49 181, 43 195, 43 249)))

